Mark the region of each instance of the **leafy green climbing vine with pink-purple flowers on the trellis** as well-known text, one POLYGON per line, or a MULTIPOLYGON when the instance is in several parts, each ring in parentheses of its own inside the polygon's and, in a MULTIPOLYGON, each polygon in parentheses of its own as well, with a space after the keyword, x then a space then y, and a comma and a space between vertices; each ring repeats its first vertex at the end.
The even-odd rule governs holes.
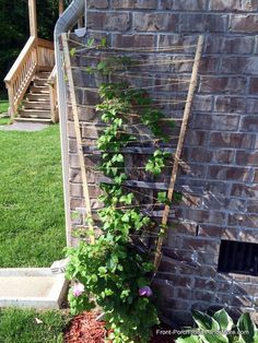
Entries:
MULTIPOLYGON (((94 42, 89 42, 89 48, 93 46, 94 42)), ((105 46, 102 40, 98 48, 105 46)), ((96 105, 105 123, 97 141, 97 149, 102 152, 98 169, 112 181, 101 184, 103 194, 99 200, 104 206, 98 215, 102 234, 93 245, 81 241, 77 248, 68 250, 67 275, 75 281, 69 293, 71 311, 77 314, 98 305, 105 312, 110 329, 108 338, 114 343, 146 343, 152 327, 159 322, 155 296, 151 289, 151 256, 134 241, 140 232, 153 229, 155 223, 136 205, 136 193, 122 187, 128 178, 124 152, 138 141, 127 130, 128 118, 137 116, 159 142, 167 142, 168 137, 161 126, 165 116, 154 108, 154 102, 145 90, 132 88, 128 82, 112 82, 115 71, 125 71, 132 63, 128 57, 116 56, 101 60, 95 68, 85 67, 89 74, 98 73, 104 80, 98 87, 102 102, 96 105)), ((174 127, 174 122, 171 126, 174 127)), ((157 145, 145 164, 145 172, 160 175, 169 156, 157 145)), ((166 192, 160 192, 156 201, 167 204, 166 192)), ((87 224, 89 221, 92 218, 87 218, 87 224)), ((87 230, 86 234, 92 233, 87 230)))

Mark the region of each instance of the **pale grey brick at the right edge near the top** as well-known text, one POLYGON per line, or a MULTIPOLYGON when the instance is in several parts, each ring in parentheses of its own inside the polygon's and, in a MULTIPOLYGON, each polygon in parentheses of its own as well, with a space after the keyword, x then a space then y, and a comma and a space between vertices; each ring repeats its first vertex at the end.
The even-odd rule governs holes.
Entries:
POLYGON ((235 14, 232 15, 230 31, 239 33, 257 33, 257 14, 235 14))

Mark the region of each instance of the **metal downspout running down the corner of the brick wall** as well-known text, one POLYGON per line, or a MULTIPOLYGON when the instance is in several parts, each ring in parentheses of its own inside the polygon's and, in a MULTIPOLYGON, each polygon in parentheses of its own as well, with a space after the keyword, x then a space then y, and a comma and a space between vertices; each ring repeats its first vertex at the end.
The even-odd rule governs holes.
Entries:
POLYGON ((71 218, 70 218, 70 187, 69 187, 69 149, 68 149, 68 114, 67 114, 67 95, 63 73, 63 58, 60 49, 60 35, 70 31, 83 15, 85 0, 73 0, 69 8, 58 19, 55 26, 55 58, 57 66, 57 88, 58 88, 58 107, 60 121, 60 141, 61 141, 61 159, 62 159, 62 180, 63 198, 66 211, 66 236, 67 246, 71 246, 71 218))

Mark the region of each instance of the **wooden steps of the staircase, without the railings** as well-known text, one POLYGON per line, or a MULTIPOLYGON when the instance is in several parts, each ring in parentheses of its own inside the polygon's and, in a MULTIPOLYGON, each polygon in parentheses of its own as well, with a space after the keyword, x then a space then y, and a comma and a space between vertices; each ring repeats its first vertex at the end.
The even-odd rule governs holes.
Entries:
POLYGON ((51 122, 50 92, 48 79, 50 72, 37 72, 17 110, 15 121, 51 122))

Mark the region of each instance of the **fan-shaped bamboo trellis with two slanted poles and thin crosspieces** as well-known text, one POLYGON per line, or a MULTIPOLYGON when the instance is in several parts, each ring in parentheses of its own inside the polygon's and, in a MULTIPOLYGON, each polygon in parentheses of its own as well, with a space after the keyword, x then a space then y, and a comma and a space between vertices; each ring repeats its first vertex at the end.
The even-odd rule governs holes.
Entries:
MULTIPOLYGON (((171 138, 175 139, 175 138, 178 138, 178 141, 176 142, 176 147, 172 149, 172 147, 166 147, 168 149, 168 151, 171 152, 172 154, 172 159, 173 159, 173 164, 169 165, 169 166, 166 166, 166 168, 172 168, 172 174, 169 176, 169 180, 167 184, 164 184, 164 182, 145 182, 145 181, 141 181, 141 180, 126 180, 124 184, 125 188, 142 188, 142 189, 162 189, 162 190, 167 190, 167 198, 169 201, 172 201, 173 199, 173 194, 174 194, 174 191, 175 191, 175 184, 176 184, 176 177, 177 177, 177 173, 178 173, 178 167, 180 165, 184 165, 183 161, 180 159, 181 158, 181 151, 183 151, 183 144, 184 144, 184 140, 185 140, 185 135, 186 135, 186 132, 187 132, 187 125, 188 125, 188 120, 189 120, 189 117, 190 117, 190 110, 191 110, 191 105, 192 105, 192 100, 194 100, 194 95, 195 95, 195 91, 196 91, 196 87, 197 87, 197 83, 198 83, 198 71, 199 71, 199 66, 200 66, 200 60, 201 60, 201 55, 202 55, 202 49, 203 49, 203 40, 204 40, 204 37, 203 35, 199 36, 198 38, 198 43, 197 45, 195 46, 190 46, 191 48, 192 47, 196 47, 196 54, 195 54, 195 58, 190 59, 189 57, 186 58, 186 59, 181 59, 180 60, 171 60, 171 61, 166 61, 166 60, 162 60, 161 63, 163 64, 173 64, 173 63, 184 63, 184 61, 192 61, 192 70, 191 70, 191 75, 189 79, 186 79, 184 81, 181 80, 178 80, 176 78, 168 78, 166 74, 165 74, 165 78, 162 78, 160 76, 161 80, 164 80, 166 82, 169 82, 171 81, 171 84, 164 84, 163 86, 169 86, 172 85, 174 82, 176 83, 176 81, 178 83, 188 83, 188 92, 187 92, 187 98, 186 99, 174 99, 174 100, 163 100, 163 99, 156 99, 156 104, 154 102, 153 106, 159 106, 159 102, 160 102, 160 105, 161 106, 173 106, 173 105, 177 105, 177 104, 180 104, 180 105, 184 105, 185 108, 184 108, 184 115, 181 118, 165 118, 165 119, 162 119, 164 122, 166 121, 169 121, 169 120, 176 120, 177 122, 177 126, 178 126, 178 129, 179 129, 179 134, 178 135, 171 135, 171 138), (149 186, 146 186, 146 184, 149 184, 149 186)), ((80 169, 81 169, 81 175, 82 175, 82 184, 83 184, 83 196, 84 196, 84 201, 85 201, 85 210, 84 212, 86 213, 87 216, 93 216, 93 212, 92 209, 91 209, 91 199, 90 199, 90 193, 89 193, 89 185, 87 185, 87 172, 90 173, 99 173, 97 172, 95 168, 92 168, 91 166, 86 166, 85 164, 85 156, 97 156, 99 155, 99 152, 97 152, 96 147, 94 146, 90 146, 90 147, 86 147, 84 146, 84 140, 81 135, 81 128, 82 128, 82 125, 85 126, 85 127, 95 127, 96 129, 96 132, 99 132, 104 127, 107 127, 107 125, 101 125, 101 123, 96 123, 96 122, 90 122, 90 121, 86 121, 86 122, 83 122, 82 125, 80 123, 79 121, 79 108, 81 109, 87 109, 87 108, 95 108, 95 105, 96 104, 78 104, 77 103, 77 97, 75 97, 75 90, 83 90, 85 92, 97 92, 97 88, 96 87, 91 87, 91 86, 78 86, 74 84, 74 81, 73 81, 73 74, 72 72, 75 71, 75 70, 79 70, 80 72, 83 72, 84 71, 84 68, 83 67, 74 67, 74 66, 71 66, 71 56, 70 56, 70 51, 69 51, 69 43, 72 43, 72 46, 74 45, 78 45, 80 48, 81 48, 81 51, 83 51, 83 54, 85 54, 84 56, 86 57, 86 52, 89 51, 93 51, 94 48, 87 48, 84 44, 82 43, 79 43, 79 42, 75 42, 75 40, 72 40, 70 38, 68 38, 67 35, 62 35, 62 44, 63 44, 63 52, 64 52, 64 67, 66 67, 66 72, 67 72, 67 76, 68 76, 68 91, 70 92, 70 97, 71 97, 71 103, 68 104, 68 106, 71 106, 72 108, 72 114, 73 114, 73 121, 74 121, 74 130, 75 130, 75 138, 77 138, 77 146, 78 146, 78 154, 79 154, 79 161, 80 161, 80 169)), ((175 47, 174 50, 185 50, 186 47, 175 47)), ((113 49, 113 50, 106 50, 105 52, 108 52, 108 54, 120 54, 122 51, 122 54, 126 54, 129 51, 129 49, 113 49)), ((173 52, 173 47, 165 47, 164 49, 161 49, 160 52, 173 52)), ((131 51, 130 51, 131 52, 131 51)), ((153 49, 153 50, 142 50, 142 49, 137 49, 136 50, 136 54, 148 54, 148 52, 159 52, 156 49, 153 49)), ((82 52, 81 52, 82 54, 82 52)), ((78 55, 78 54, 75 54, 78 55)), ((93 57, 91 57, 93 59, 93 57)), ((97 59, 99 59, 99 57, 97 57, 97 59)), ((143 64, 143 63, 138 63, 139 66, 138 67, 143 67, 143 66, 156 66, 157 63, 149 63, 149 64, 143 64)), ((159 74, 159 72, 156 72, 159 74)), ((126 73, 122 73, 122 78, 126 78, 127 74, 129 75, 129 78, 133 78, 133 72, 131 71, 127 71, 126 73)), ((137 74, 134 72, 134 76, 136 78, 139 78, 139 74, 137 74)), ((181 76, 181 75, 180 75, 181 76)), ((185 76, 185 75, 184 75, 185 76)), ((145 71, 143 71, 143 80, 145 79, 157 79, 159 80, 159 76, 150 76, 149 74, 146 74, 145 71)), ((159 86, 157 86, 159 87, 159 86)), ((160 86, 162 87, 162 85, 160 86)), ((143 87, 144 88, 144 87, 143 87)), ((153 88, 155 90, 155 86, 152 85, 150 86, 149 88, 153 88)), ((129 117, 133 118, 136 117, 136 119, 138 118, 139 119, 139 115, 137 114, 131 114, 129 115, 129 117)), ((134 123, 134 122, 129 122, 128 125, 126 125, 122 130, 124 132, 126 132, 126 130, 129 128, 139 128, 140 126, 143 126, 142 123, 134 123)), ((141 134, 141 133, 140 133, 141 134)), ((138 134, 138 135, 140 135, 138 134)), ((144 134, 143 133, 143 138, 144 138, 144 134)), ((148 137, 148 134, 145 135, 148 137)), ((149 142, 157 142, 159 140, 156 140, 155 138, 152 138, 150 137, 149 134, 149 142)), ((139 140, 140 142, 144 142, 144 139, 141 141, 139 140)), ((148 140, 145 140, 146 142, 148 140)), ((125 151, 122 152, 125 154, 133 154, 133 153, 137 153, 137 154, 149 154, 150 153, 150 147, 149 150, 146 147, 128 147, 128 149, 125 149, 125 151)), ((127 168, 127 167, 126 167, 127 168)), ((130 169, 130 167, 128 167, 128 169, 130 169)), ((137 170, 142 170, 144 169, 142 166, 133 166, 131 167, 131 169, 137 169, 137 170)), ((108 180, 104 178, 104 182, 108 182, 108 180)), ((140 191, 136 191, 138 192, 139 194, 143 194, 143 196, 146 196, 145 193, 143 192, 140 192, 140 191)), ((168 218, 173 217, 174 214, 171 213, 171 206, 169 205, 165 205, 163 211, 154 211, 154 209, 160 205, 157 204, 157 199, 154 197, 154 196, 146 196, 149 198, 149 200, 154 200, 155 203, 151 204, 151 203, 148 203, 148 204, 134 204, 134 206, 138 206, 138 208, 144 208, 144 206, 149 206, 153 212, 159 212, 159 217, 162 217, 162 222, 161 222, 161 225, 160 225, 160 229, 159 232, 156 233, 148 233, 148 235, 150 237, 155 237, 156 238, 156 248, 155 248, 155 251, 154 251, 154 267, 155 267, 155 273, 157 272, 159 270, 159 267, 160 267, 160 262, 161 262, 161 257, 162 257, 162 246, 163 246, 163 241, 164 241, 164 237, 167 233, 167 221, 168 218)), ((125 208, 125 206, 124 206, 125 208)), ((91 229, 93 229, 95 226, 94 224, 91 224, 89 225, 89 227, 91 229)), ((145 233, 146 234, 146 233, 145 233)), ((91 238, 91 243, 94 243, 94 237, 91 238)))

